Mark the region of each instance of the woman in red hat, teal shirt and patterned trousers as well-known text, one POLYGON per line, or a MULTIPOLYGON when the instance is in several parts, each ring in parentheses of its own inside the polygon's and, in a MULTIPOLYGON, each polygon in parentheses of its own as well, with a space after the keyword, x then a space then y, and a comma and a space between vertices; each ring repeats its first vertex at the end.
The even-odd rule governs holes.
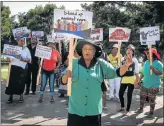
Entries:
POLYGON ((155 109, 155 99, 156 95, 159 92, 160 86, 160 75, 163 73, 163 64, 159 61, 160 55, 158 54, 155 48, 152 48, 152 65, 150 66, 150 57, 149 51, 145 51, 147 59, 144 63, 142 69, 142 75, 140 80, 143 78, 143 85, 140 90, 140 109, 137 113, 143 112, 144 103, 146 97, 149 99, 150 103, 150 113, 148 117, 152 117, 155 109), (152 70, 152 75, 150 74, 150 69, 152 70))

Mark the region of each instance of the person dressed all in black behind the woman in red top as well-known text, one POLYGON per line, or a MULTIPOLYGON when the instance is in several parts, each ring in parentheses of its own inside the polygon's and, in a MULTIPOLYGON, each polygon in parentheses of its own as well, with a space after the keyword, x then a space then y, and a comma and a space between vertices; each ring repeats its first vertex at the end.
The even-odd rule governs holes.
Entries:
POLYGON ((39 69, 39 58, 35 56, 36 45, 37 45, 37 38, 33 37, 31 39, 31 44, 27 46, 27 48, 30 50, 31 53, 32 62, 28 63, 25 95, 29 94, 31 80, 32 80, 32 86, 31 86, 32 94, 35 95, 36 92, 37 73, 39 69), (32 78, 31 78, 31 74, 32 74, 32 78))

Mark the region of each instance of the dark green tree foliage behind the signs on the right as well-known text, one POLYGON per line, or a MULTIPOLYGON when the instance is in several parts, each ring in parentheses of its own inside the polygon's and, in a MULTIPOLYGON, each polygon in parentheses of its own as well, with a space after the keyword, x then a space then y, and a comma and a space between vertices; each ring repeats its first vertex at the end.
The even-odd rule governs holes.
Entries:
MULTIPOLYGON (((164 2, 96 1, 93 4, 83 4, 81 6, 84 10, 93 12, 93 23, 95 23, 96 28, 104 28, 104 50, 106 52, 110 52, 113 44, 108 41, 109 28, 116 26, 128 27, 132 30, 129 42, 136 46, 138 56, 143 53, 140 46, 139 29, 141 27, 160 26, 161 42, 156 47, 160 51, 163 50, 164 2)), ((129 43, 122 44, 123 53, 125 53, 127 44, 129 43)), ((145 48, 145 46, 143 47, 145 48)))

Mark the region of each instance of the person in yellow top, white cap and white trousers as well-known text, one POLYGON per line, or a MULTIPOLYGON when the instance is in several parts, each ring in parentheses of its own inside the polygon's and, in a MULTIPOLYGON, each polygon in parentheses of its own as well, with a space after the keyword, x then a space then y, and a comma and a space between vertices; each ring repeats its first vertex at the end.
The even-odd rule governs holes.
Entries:
MULTIPOLYGON (((112 47, 112 53, 108 56, 109 62, 113 65, 113 67, 118 68, 120 65, 118 64, 118 44, 114 44, 112 47)), ((122 55, 120 54, 120 60, 122 59, 122 55)), ((110 84, 110 95, 109 99, 114 99, 114 89, 116 89, 116 98, 119 100, 119 91, 120 91, 120 81, 121 78, 117 77, 109 80, 110 84)))

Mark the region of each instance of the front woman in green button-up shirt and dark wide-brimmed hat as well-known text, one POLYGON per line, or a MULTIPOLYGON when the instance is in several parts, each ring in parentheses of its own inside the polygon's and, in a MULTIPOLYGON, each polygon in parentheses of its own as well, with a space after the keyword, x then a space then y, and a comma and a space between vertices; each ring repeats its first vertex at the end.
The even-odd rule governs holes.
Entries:
POLYGON ((67 84, 68 78, 72 76, 67 126, 101 126, 101 84, 104 79, 123 75, 132 60, 127 58, 116 72, 110 63, 98 58, 101 55, 99 46, 78 40, 76 49, 81 58, 74 59, 72 73, 66 69, 61 78, 62 83, 67 84))

